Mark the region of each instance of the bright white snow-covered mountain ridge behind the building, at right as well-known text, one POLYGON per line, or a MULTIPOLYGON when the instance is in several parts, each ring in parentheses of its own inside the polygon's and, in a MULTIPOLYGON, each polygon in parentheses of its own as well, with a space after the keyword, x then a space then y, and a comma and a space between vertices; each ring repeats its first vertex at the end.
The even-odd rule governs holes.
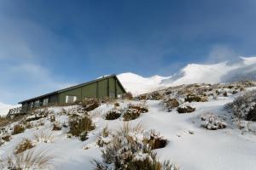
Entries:
POLYGON ((170 77, 141 77, 131 72, 118 77, 126 90, 135 95, 189 83, 256 80, 256 57, 240 57, 212 65, 189 64, 170 77))

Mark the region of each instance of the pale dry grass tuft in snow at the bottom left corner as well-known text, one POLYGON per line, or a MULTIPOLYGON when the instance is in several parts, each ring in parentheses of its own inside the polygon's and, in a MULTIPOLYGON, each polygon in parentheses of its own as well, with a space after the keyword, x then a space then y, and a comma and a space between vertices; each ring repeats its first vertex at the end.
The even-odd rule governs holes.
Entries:
POLYGON ((11 170, 49 170, 53 169, 52 161, 54 156, 50 156, 48 150, 28 150, 9 156, 0 163, 0 167, 11 170))

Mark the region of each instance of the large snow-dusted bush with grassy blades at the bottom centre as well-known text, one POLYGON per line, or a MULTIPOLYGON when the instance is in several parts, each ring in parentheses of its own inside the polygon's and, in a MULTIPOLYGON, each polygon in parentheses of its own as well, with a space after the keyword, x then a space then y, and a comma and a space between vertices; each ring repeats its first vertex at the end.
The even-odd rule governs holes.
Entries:
POLYGON ((125 123, 113 134, 113 139, 102 150, 103 161, 92 161, 95 169, 177 170, 178 168, 170 164, 170 161, 162 163, 157 159, 156 153, 141 140, 142 133, 141 124, 131 127, 125 123))

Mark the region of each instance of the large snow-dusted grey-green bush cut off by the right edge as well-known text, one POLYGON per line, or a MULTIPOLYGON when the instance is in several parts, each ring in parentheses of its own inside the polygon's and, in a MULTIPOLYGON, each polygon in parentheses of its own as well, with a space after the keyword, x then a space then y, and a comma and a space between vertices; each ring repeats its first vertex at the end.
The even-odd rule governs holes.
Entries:
POLYGON ((237 97, 225 109, 231 111, 238 118, 246 121, 256 121, 256 90, 237 97))

